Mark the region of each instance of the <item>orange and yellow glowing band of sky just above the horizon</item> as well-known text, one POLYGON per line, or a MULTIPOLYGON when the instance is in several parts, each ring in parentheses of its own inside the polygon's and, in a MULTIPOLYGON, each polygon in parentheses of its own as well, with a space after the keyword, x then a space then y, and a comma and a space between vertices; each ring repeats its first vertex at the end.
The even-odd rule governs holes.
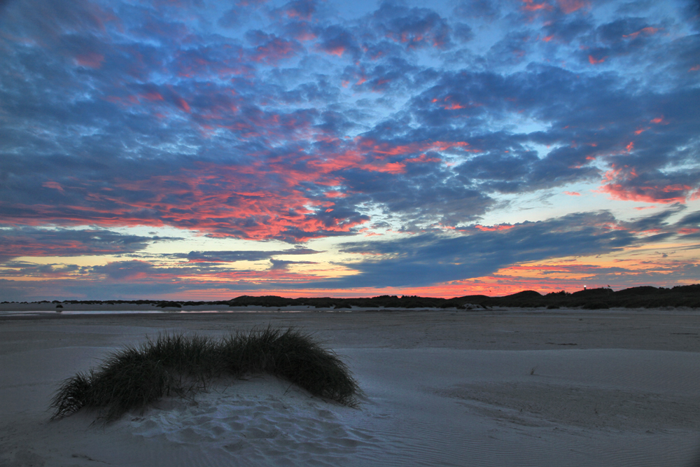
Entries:
MULTIPOLYGON (((510 227, 510 226, 509 226, 510 227)), ((481 230, 481 229, 480 229, 481 230)), ((488 229, 487 229, 488 230, 488 229)), ((10 280, 20 283, 46 284, 50 287, 52 280, 83 281, 87 288, 89 284, 113 283, 128 279, 132 284, 167 284, 176 281, 185 285, 184 290, 176 293, 159 293, 158 297, 134 295, 132 298, 169 298, 174 300, 229 300, 239 295, 279 295, 288 298, 300 297, 372 297, 377 295, 419 295, 440 298, 461 297, 465 295, 510 295, 524 290, 534 290, 545 294, 565 290, 578 291, 587 285, 589 288, 610 285, 614 290, 639 285, 672 286, 678 281, 664 279, 668 274, 680 267, 692 266, 696 263, 693 256, 692 239, 683 242, 683 235, 696 235, 700 228, 683 228, 678 231, 675 241, 663 244, 643 244, 629 247, 605 256, 575 256, 552 258, 524 263, 516 263, 482 277, 462 279, 433 284, 430 286, 395 286, 395 287, 356 287, 356 288, 317 288, 314 284, 319 279, 342 277, 353 274, 352 270, 332 265, 290 265, 293 269, 263 268, 260 270, 223 270, 213 269, 210 272, 197 272, 199 263, 182 264, 191 266, 172 270, 172 266, 163 264, 151 266, 141 260, 113 263, 112 271, 122 271, 120 279, 110 279, 109 276, 91 274, 81 277, 76 270, 56 265, 50 272, 43 272, 41 277, 13 277, 10 280), (689 242, 689 243, 688 243, 689 242), (666 258, 668 256, 668 258, 666 258), (141 269, 131 271, 134 265, 143 265, 141 269), (298 266, 298 267, 297 267, 298 266), (190 269, 188 269, 190 268, 190 269), (191 270, 192 273, 188 273, 191 270), (656 279, 650 279, 656 277, 656 279), (246 288, 244 283, 251 284, 246 288), (285 287, 281 284, 289 284, 285 287), (241 284, 239 290, 230 290, 223 284, 241 284), (276 284, 269 288, 265 284, 276 284), (191 288, 188 289, 187 286, 191 288)), ((362 233, 371 235, 363 229, 362 233)), ((650 233, 653 233, 650 231, 650 233)), ((37 251, 37 254, 48 255, 50 251, 37 251)), ((31 258, 27 258, 31 260, 31 258)), ((109 266, 107 263, 106 266, 109 266)), ((5 269, 7 270, 7 268, 5 269)), ((2 276, 2 270, 0 270, 2 276)), ((4 276, 7 277, 7 276, 4 276)), ((680 282, 680 284, 685 284, 680 282)), ((688 283, 689 284, 689 283, 688 283)), ((42 286, 45 287, 45 286, 42 286)), ((99 297, 84 297, 84 299, 101 299, 99 297)))

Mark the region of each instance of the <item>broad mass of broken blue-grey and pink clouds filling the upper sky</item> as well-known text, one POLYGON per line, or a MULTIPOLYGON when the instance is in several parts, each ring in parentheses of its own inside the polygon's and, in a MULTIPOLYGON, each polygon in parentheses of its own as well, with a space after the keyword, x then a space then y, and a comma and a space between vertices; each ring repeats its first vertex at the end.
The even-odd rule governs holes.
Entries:
MULTIPOLYGON (((476 15, 470 18, 482 18, 477 13, 485 5, 470 4, 476 15)), ((577 5, 566 8, 584 11, 572 9, 577 5)), ((100 27, 89 20, 97 13, 71 13, 73 23, 89 23, 70 39, 80 38, 87 48, 71 50, 98 50, 104 60, 99 68, 78 71, 46 60, 48 49, 39 47, 23 49, 21 62, 8 62, 34 82, 28 88, 24 80, 9 80, 3 91, 13 116, 0 130, 8 167, 3 199, 13 200, 0 201, 3 217, 37 225, 174 225, 217 237, 299 242, 353 235, 370 218, 367 202, 407 225, 428 218, 455 225, 493 209, 495 193, 597 179, 618 200, 677 202, 699 186, 694 171, 671 169, 694 157, 697 115, 683 104, 696 99, 694 89, 643 92, 621 85, 622 77, 614 74, 537 64, 533 56, 552 43, 537 40, 528 28, 496 42, 484 57, 493 60, 491 71, 436 70, 419 65, 411 50, 444 50, 450 31, 457 37, 470 30, 465 23, 450 24, 427 8, 384 3, 367 17, 372 22, 310 25, 313 4, 285 8, 300 13, 285 13, 276 33, 249 30, 249 46, 194 29, 182 32, 185 23, 165 17, 120 13, 120 23, 101 20, 100 27), (113 41, 119 27, 139 38, 158 37, 160 47, 141 39, 113 41), (308 47, 279 35, 302 29, 316 38, 306 39, 315 41, 308 47), (175 42, 182 34, 190 38, 187 48, 175 42), (335 83, 327 74, 302 69, 258 70, 295 57, 315 67, 313 60, 327 53, 349 53, 355 61, 335 83), (498 70, 528 61, 521 71, 498 70), (158 81, 158 69, 178 79, 158 81), (409 99, 367 125, 372 111, 344 104, 342 81, 384 95, 386 102, 402 94, 409 99), (87 83, 96 85, 85 96, 87 83), (652 123, 660 115, 666 125, 652 123), (509 127, 513 118, 528 118, 538 130, 509 127), (37 124, 41 134, 30 130, 37 124), (358 132, 359 139, 344 139, 358 132), (533 150, 535 144, 551 149, 544 155, 533 150), (430 150, 435 154, 423 156, 430 150), (451 165, 407 162, 420 158, 451 159, 451 165), (351 196, 335 207, 325 205, 328 200, 315 204, 318 189, 309 187, 331 183, 351 196)), ((649 20, 624 18, 596 27, 590 21, 576 13, 545 30, 563 44, 579 40, 600 50, 619 44, 623 55, 667 44, 661 26, 649 20)), ((691 60, 692 41, 671 45, 664 63, 691 60)), ((587 63, 594 50, 581 53, 587 63)), ((687 80, 689 67, 683 67, 678 76, 687 80)))

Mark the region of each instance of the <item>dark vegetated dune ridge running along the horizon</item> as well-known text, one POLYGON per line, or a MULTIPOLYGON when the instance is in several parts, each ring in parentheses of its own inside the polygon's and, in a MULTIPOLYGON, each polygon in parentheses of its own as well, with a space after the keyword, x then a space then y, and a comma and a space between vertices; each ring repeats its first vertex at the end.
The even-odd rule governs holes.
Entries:
MULTIPOLYGON (((48 300, 44 300, 48 302, 48 300)), ((41 302, 40 302, 41 303, 41 302)), ((241 295, 231 300, 219 301, 181 301, 169 300, 65 300, 53 303, 82 304, 82 305, 152 305, 155 307, 181 309, 195 305, 228 305, 230 307, 269 307, 281 308, 288 306, 309 306, 314 308, 349 309, 363 308, 458 308, 473 307, 583 307, 585 309, 601 309, 610 307, 626 308, 657 308, 657 307, 691 307, 700 308, 700 284, 691 286, 664 287, 632 287, 622 291, 612 291, 611 288, 589 288, 587 290, 568 293, 565 291, 542 295, 535 291, 522 291, 505 297, 489 297, 486 295, 465 295, 455 298, 418 297, 415 295, 381 295, 372 298, 284 298, 276 295, 252 297, 241 295)))

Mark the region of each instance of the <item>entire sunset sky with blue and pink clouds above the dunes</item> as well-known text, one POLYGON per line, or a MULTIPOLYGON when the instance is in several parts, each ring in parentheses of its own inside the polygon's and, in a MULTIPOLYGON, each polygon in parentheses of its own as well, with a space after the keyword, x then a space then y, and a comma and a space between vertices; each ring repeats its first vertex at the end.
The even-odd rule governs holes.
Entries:
POLYGON ((0 300, 700 282, 700 4, 0 2, 0 300))

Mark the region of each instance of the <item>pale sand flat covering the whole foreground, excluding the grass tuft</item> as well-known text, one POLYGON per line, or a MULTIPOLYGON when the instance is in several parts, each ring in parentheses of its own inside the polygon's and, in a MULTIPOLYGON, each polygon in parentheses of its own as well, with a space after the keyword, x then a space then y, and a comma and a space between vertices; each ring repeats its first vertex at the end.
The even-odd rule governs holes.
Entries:
POLYGON ((0 466, 696 466, 699 334, 683 311, 4 318, 0 466), (107 426, 48 421, 57 384, 123 344, 267 323, 344 356, 360 408, 254 377, 107 426))

